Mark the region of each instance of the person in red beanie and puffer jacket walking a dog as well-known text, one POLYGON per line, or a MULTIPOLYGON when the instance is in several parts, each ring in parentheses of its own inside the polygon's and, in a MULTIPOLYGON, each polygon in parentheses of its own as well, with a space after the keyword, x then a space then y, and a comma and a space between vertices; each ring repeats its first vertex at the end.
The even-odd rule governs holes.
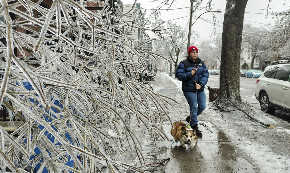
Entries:
POLYGON ((204 62, 198 57, 198 49, 190 46, 188 56, 181 61, 176 69, 176 77, 182 81, 181 89, 190 107, 190 116, 186 118, 190 126, 196 129, 196 135, 202 136, 197 127, 197 116, 206 107, 206 95, 204 86, 208 81, 208 70, 204 62))

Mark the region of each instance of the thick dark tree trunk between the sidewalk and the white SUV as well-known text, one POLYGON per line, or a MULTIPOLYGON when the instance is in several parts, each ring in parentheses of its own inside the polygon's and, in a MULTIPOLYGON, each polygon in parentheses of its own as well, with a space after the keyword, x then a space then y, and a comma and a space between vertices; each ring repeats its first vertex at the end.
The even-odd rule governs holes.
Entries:
MULTIPOLYGON (((248 0, 227 0, 222 30, 222 57, 219 91, 234 102, 240 102, 240 55, 245 8, 248 0)), ((217 104, 228 102, 219 97, 217 104)))

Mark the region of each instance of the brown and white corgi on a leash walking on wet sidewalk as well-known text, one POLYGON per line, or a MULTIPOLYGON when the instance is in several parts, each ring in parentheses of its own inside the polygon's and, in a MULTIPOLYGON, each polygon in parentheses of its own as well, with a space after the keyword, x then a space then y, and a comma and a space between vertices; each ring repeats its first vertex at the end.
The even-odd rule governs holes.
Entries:
POLYGON ((187 143, 190 149, 193 149, 197 141, 196 129, 193 130, 187 127, 186 124, 181 121, 174 122, 173 126, 174 128, 170 130, 170 133, 175 142, 179 141, 183 148, 186 148, 184 144, 187 143))

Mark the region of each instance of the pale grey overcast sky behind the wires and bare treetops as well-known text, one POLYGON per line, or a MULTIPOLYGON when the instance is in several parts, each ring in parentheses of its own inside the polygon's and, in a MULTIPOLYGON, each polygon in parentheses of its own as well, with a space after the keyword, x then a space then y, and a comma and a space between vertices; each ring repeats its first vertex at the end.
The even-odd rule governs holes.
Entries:
MULTIPOLYGON (((133 4, 134 0, 122 0, 124 4, 133 4)), ((141 3, 142 11, 145 9, 156 9, 158 3, 152 3, 151 0, 137 0, 137 2, 141 3)), ((204 0, 201 7, 205 7, 208 0, 204 0)), ((223 23, 223 15, 225 13, 225 4, 226 0, 213 0, 213 4, 211 6, 212 10, 222 11, 222 13, 216 14, 216 33, 222 33, 222 23, 223 23)), ((164 20, 172 20, 176 22, 178 25, 184 27, 184 29, 188 30, 189 25, 189 15, 190 15, 190 0, 177 0, 170 9, 175 10, 162 10, 162 18, 164 20), (179 8, 179 9, 178 9, 179 8)), ((268 6, 268 0, 248 0, 248 4, 246 7, 244 24, 249 23, 253 26, 260 27, 265 24, 273 24, 272 15, 269 14, 268 18, 266 18, 266 10, 268 6)), ((286 1, 285 5, 283 5, 283 0, 272 0, 270 2, 271 9, 268 10, 271 12, 282 12, 288 10, 290 6, 290 0, 286 1)), ((168 7, 163 7, 162 9, 168 9, 168 7)), ((199 10, 193 13, 192 23, 196 20, 198 16, 205 12, 205 9, 199 10)), ((147 14, 150 13, 150 10, 146 11, 147 14)), ((200 33, 200 38, 205 39, 213 39, 213 15, 211 13, 204 13, 200 16, 194 25, 192 26, 192 31, 196 30, 200 33)))

